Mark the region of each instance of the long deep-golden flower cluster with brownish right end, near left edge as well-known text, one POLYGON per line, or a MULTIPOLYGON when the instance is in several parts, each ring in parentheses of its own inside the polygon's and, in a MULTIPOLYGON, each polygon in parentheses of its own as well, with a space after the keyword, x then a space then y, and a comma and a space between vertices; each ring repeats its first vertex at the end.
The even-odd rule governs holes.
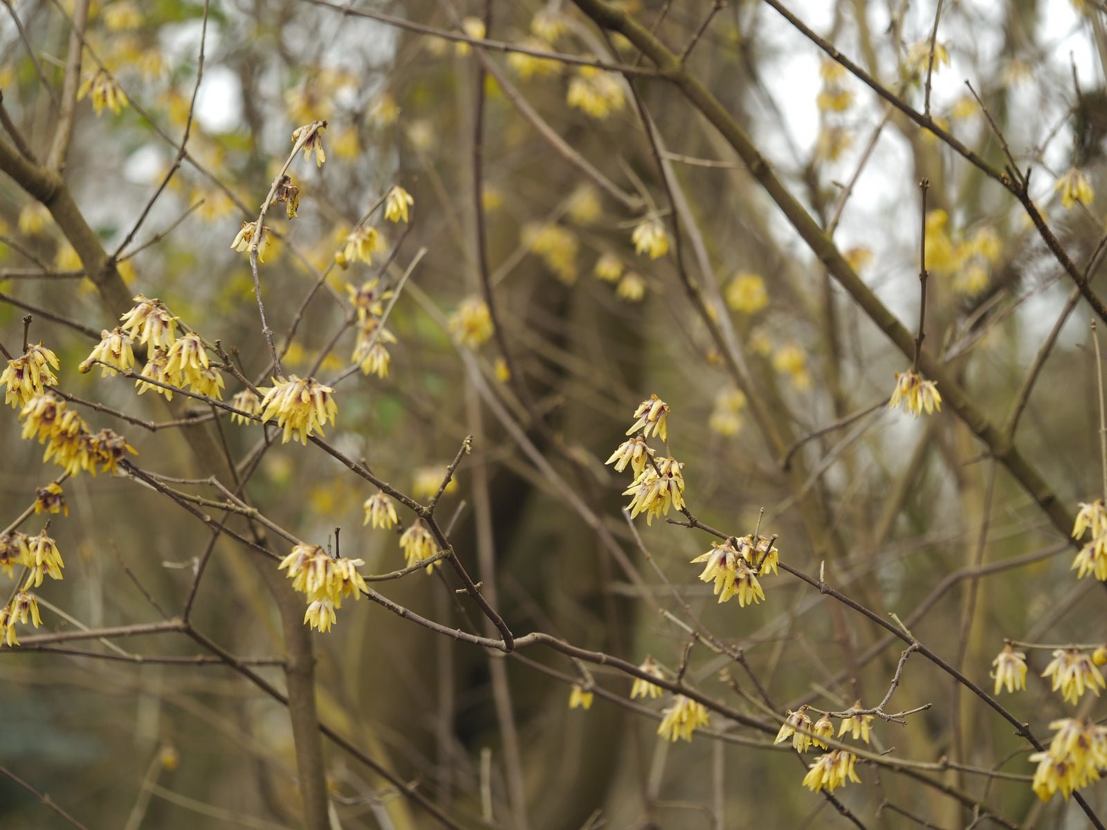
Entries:
POLYGON ((71 476, 81 470, 93 476, 97 470, 114 473, 126 454, 135 452, 126 438, 111 429, 101 429, 95 435, 90 433, 84 418, 52 392, 40 393, 28 401, 19 418, 23 422, 24 439, 33 437, 46 445, 42 460, 53 459, 71 476))

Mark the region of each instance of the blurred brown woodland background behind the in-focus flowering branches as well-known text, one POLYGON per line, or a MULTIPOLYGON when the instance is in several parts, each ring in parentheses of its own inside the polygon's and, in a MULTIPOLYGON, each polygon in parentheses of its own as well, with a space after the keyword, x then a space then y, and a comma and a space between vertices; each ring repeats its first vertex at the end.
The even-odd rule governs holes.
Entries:
MULTIPOLYGON (((466 18, 469 24, 484 13, 483 3, 457 0, 353 6, 470 34, 458 21, 466 18)), ((710 0, 620 6, 648 25, 660 19, 658 33, 677 51, 713 8, 710 0)), ((882 83, 922 107, 925 72, 920 73, 914 46, 930 40, 934 2, 793 6, 882 83)), ((35 62, 59 94, 73 3, 19 0, 6 7, 3 105, 30 145, 44 148, 55 114, 35 62)), ((494 40, 531 39, 538 49, 638 62, 628 42, 608 39, 572 3, 496 0, 490 7, 494 40), (550 21, 556 27, 544 29, 550 21), (542 34, 556 39, 542 41, 542 34)), ((204 14, 199 2, 92 3, 87 45, 131 104, 97 116, 89 98, 79 102, 64 177, 108 251, 123 241, 173 164, 189 116, 204 14)), ((494 578, 497 608, 516 634, 547 631, 635 665, 646 654, 671 670, 681 663, 687 632, 659 612, 681 620, 685 613, 620 515, 628 483, 603 465, 623 439, 634 407, 656 393, 672 407, 669 447, 686 465, 693 512, 744 535, 764 508, 762 532, 779 536, 785 561, 811 574, 825 564, 839 590, 881 615, 894 612, 908 620, 959 569, 1052 551, 1024 567, 945 585, 910 623, 915 636, 977 684, 991 685, 990 663, 1005 636, 1051 643, 1107 636, 1101 589, 1069 573, 1062 535, 965 425, 948 411, 912 419, 881 405, 893 373, 910 361, 834 284, 718 134, 672 85, 646 77, 634 89, 694 220, 694 235, 683 230, 681 255, 712 317, 733 331, 753 390, 772 414, 775 440, 787 448, 871 408, 803 444, 788 469, 782 447, 749 417, 746 396, 697 317, 679 278, 675 249, 656 259, 634 251, 632 230, 651 210, 668 221, 669 206, 629 86, 610 76, 621 104, 609 102, 600 106, 606 112, 589 114, 567 102, 582 76, 579 69, 488 51, 510 85, 484 81, 480 198, 488 262, 501 334, 547 427, 531 423, 513 384, 497 375, 497 341, 475 350, 477 365, 529 440, 618 540, 633 568, 624 569, 548 471, 536 467, 480 404, 445 325, 463 300, 479 295, 473 193, 479 81, 473 50, 328 3, 296 0, 217 0, 207 9, 207 27, 188 158, 154 203, 131 250, 143 247, 121 262, 122 276, 135 293, 163 299, 206 339, 236 350, 254 376, 268 353, 248 259, 229 243, 242 221, 256 218, 256 206, 291 147, 292 129, 325 120, 328 160, 321 167, 299 159, 293 165, 299 218, 270 214, 280 241, 261 267, 261 284, 279 338, 362 215, 392 185, 405 187, 415 199, 410 231, 379 216, 372 220, 390 250, 399 246, 395 259, 383 270, 391 255, 370 266, 331 268, 307 307, 284 366, 302 374, 318 359, 324 382, 346 370, 354 349, 354 332, 342 331, 346 284, 358 287, 379 273, 394 283, 426 248, 389 320, 397 342, 390 347, 387 376, 355 373, 338 384, 339 418, 328 438, 411 492, 421 469, 441 478, 464 436, 477 436, 477 452, 458 469, 458 488, 445 496, 442 515, 456 519, 451 538, 474 578, 494 578), (631 205, 552 149, 520 114, 520 97, 631 205), (596 274, 604 256, 621 263, 614 281, 596 274), (494 574, 484 573, 476 557, 473 504, 479 498, 475 488, 483 487, 477 469, 487 476, 494 574)), ((1086 262, 1104 234, 1101 210, 1095 203, 1066 209, 1054 184, 1079 167, 1095 189, 1101 185, 1105 121, 1098 87, 1107 42, 1098 3, 946 2, 937 42, 950 65, 935 62, 935 117, 985 158, 1003 164, 994 133, 963 85, 969 79, 1016 157, 1033 166, 1033 197, 1051 227, 1073 259, 1086 262)), ((87 73, 95 63, 87 52, 85 61, 87 73)), ((932 257, 925 349, 948 364, 984 413, 1003 423, 1070 291, 1018 204, 858 81, 834 71, 764 3, 732 0, 718 10, 689 66, 752 134, 811 215, 824 227, 836 226, 839 248, 909 328, 918 319, 919 242, 925 234, 932 257), (929 217, 920 212, 921 177, 931 185, 929 217), (847 188, 848 199, 839 204, 847 188)), ((9 350, 19 347, 25 310, 6 298, 94 330, 111 328, 127 310, 105 309, 89 280, 62 273, 80 270, 80 260, 50 216, 3 176, 0 242, 0 339, 9 350), (29 279, 32 271, 62 276, 29 279)), ((1078 305, 1064 323, 1016 434, 1024 455, 1073 509, 1097 495, 1101 476, 1088 318, 1078 305)), ((76 373, 93 340, 39 315, 31 334, 59 355, 66 392, 159 417, 147 400, 153 395, 136 398, 130 381, 76 373)), ((228 393, 237 391, 228 382, 228 393)), ((124 432, 144 468, 210 474, 193 469, 175 429, 147 433, 105 413, 85 415, 94 429, 124 432)), ((256 425, 228 424, 225 432, 235 457, 260 435, 256 425)), ((2 523, 54 475, 40 461, 41 447, 19 436, 17 412, 0 413, 2 523)), ((74 621, 97 627, 159 619, 136 581, 174 613, 207 540, 195 519, 127 478, 80 477, 65 491, 71 512, 53 517, 51 535, 65 556, 66 578, 40 590, 51 603, 43 608, 46 630, 74 621)), ((343 554, 364 559, 366 572, 403 564, 393 535, 362 527, 361 505, 372 488, 314 447, 275 447, 248 491, 266 516, 300 538, 325 544, 333 529, 342 528, 343 554)), ((876 705, 883 696, 898 646, 859 660, 883 637, 881 630, 784 574, 764 580, 767 599, 759 605, 716 605, 689 564, 708 547, 708 537, 664 521, 639 529, 653 562, 699 620, 743 650, 780 714, 800 701, 842 709, 858 698, 876 705)), ((248 556, 234 542, 218 543, 200 587, 196 623, 236 655, 279 655, 279 623, 248 556)), ((416 572, 384 585, 384 593, 420 614, 451 626, 473 625, 473 609, 455 598, 456 585, 445 578, 416 572)), ((323 720, 404 780, 417 781, 463 826, 484 826, 489 805, 494 826, 517 826, 487 654, 369 602, 344 606, 334 630, 313 642, 323 720)), ((184 637, 164 634, 118 646, 89 645, 104 655, 120 646, 128 654, 197 653, 184 637)), ((1072 707, 1037 676, 1043 655, 1031 656, 1028 691, 1004 703, 1044 734, 1047 722, 1072 707)), ((732 740, 765 745, 764 736, 714 717, 710 735, 669 745, 655 737, 656 717, 602 697, 587 710, 569 709, 563 678, 579 679, 579 673, 560 655, 529 650, 505 665, 532 828, 845 824, 823 798, 800 787, 803 769, 786 753, 732 740), (561 679, 539 671, 536 661, 561 679)), ((720 681, 724 668, 741 674, 728 658, 696 645, 686 676, 713 697, 747 708, 720 681)), ((279 671, 260 671, 279 681, 279 671)), ((592 672, 600 687, 629 693, 627 676, 602 666, 592 672)), ((0 762, 49 791, 90 828, 298 826, 286 712, 225 667, 6 649, 0 677, 0 762)), ((932 708, 906 726, 878 722, 873 747, 893 747, 897 756, 923 761, 949 758, 1032 771, 1030 748, 1010 725, 912 657, 892 706, 927 703, 932 708)), ((660 702, 645 705, 660 712, 660 702)), ((1092 712, 1087 702, 1080 710, 1092 712)), ((1083 826, 1083 817, 1077 820, 1079 813, 1059 799, 1037 803, 1025 780, 952 770, 929 775, 985 798, 1024 826, 1062 827, 1062 816, 1069 813, 1075 823, 1065 826, 1083 826)), ((327 777, 335 826, 434 826, 333 747, 327 777)), ((972 821, 956 801, 910 777, 862 765, 861 778, 863 786, 840 795, 867 826, 909 826, 891 810, 878 816, 881 803, 931 826, 972 821)), ((1100 790, 1088 790, 1087 797, 1103 809, 1100 790)), ((0 824, 66 826, 3 778, 0 824)))

